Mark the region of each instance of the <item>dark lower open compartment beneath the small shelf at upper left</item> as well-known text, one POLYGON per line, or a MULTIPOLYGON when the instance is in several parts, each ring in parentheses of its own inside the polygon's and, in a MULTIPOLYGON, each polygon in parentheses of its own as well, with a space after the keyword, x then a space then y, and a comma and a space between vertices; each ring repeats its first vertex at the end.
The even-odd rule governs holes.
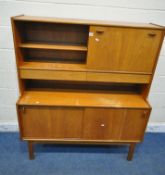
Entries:
MULTIPOLYGON (((54 46, 53 46, 54 47, 54 46)), ((76 47, 76 46, 75 46, 76 47)), ((79 50, 60 50, 59 47, 54 49, 41 49, 41 48, 21 48, 23 60, 32 62, 44 63, 69 63, 69 64, 85 64, 87 52, 79 50), (56 50, 57 49, 57 50, 56 50)), ((63 48, 63 46, 61 46, 63 48)), ((71 46, 67 48, 73 49, 71 46)))

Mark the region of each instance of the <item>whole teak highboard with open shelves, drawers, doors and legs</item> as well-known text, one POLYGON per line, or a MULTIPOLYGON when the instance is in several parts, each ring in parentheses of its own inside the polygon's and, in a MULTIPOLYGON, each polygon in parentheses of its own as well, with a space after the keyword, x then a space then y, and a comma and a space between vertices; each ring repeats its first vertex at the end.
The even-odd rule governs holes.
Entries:
POLYGON ((143 141, 164 28, 155 24, 11 18, 20 137, 34 143, 143 141))

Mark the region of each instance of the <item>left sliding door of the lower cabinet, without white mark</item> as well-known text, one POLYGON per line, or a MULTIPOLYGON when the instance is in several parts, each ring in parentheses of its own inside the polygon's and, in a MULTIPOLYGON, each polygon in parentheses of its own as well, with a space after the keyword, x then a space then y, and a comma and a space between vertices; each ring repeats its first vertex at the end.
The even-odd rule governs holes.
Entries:
POLYGON ((22 137, 28 139, 80 138, 83 110, 25 107, 21 109, 22 137))

